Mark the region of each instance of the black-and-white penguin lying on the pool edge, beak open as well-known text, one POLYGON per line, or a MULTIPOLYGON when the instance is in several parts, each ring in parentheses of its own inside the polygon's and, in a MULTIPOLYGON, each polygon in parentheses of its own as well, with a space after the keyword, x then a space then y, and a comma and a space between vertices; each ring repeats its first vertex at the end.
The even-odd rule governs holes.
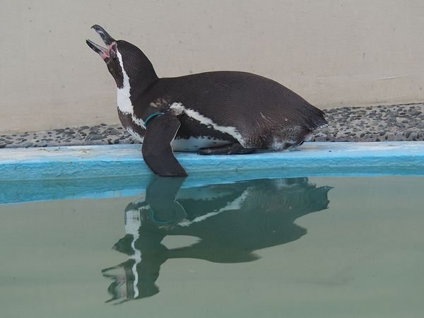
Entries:
POLYGON ((114 40, 100 25, 92 28, 105 47, 86 43, 117 84, 119 120, 143 143, 143 159, 156 175, 187 176, 174 151, 282 151, 328 125, 322 110, 269 78, 241 71, 159 78, 141 49, 114 40))

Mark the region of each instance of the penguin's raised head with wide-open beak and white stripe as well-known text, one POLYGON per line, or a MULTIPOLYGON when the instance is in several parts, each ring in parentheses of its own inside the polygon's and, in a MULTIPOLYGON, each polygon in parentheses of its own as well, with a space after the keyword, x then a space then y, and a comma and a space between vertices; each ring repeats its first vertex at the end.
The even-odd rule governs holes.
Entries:
POLYGON ((102 37, 106 47, 97 45, 91 40, 86 40, 86 43, 105 61, 118 88, 124 87, 124 76, 128 76, 131 80, 157 78, 151 61, 141 49, 124 40, 114 40, 100 25, 96 24, 91 28, 102 37))

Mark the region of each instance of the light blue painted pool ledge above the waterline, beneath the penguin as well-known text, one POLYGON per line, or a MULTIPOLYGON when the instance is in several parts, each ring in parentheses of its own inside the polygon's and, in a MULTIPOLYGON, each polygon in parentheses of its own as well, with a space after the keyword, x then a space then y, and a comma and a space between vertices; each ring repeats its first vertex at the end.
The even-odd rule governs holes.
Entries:
MULTIPOLYGON (((305 143, 295 151, 203 156, 177 153, 189 175, 424 175, 424 141, 305 143), (264 173, 261 173, 264 172, 264 173), (265 172, 266 171, 266 172, 265 172)), ((151 175, 141 145, 0 150, 0 181, 151 175)))

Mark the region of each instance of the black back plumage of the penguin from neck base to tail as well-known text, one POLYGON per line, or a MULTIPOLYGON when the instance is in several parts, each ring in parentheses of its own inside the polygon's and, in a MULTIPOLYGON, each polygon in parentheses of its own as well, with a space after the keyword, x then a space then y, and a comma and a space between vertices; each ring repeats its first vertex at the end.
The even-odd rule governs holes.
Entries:
MULTIPOLYGON (((300 143, 311 131, 327 124, 324 113, 298 94, 252 73, 214 71, 159 78, 144 91, 139 103, 146 105, 161 98, 181 102, 219 126, 235 127, 248 144, 258 148, 269 148, 273 136, 300 143)), ((143 112, 142 107, 139 111, 143 112)), ((184 123, 194 125, 184 114, 180 120, 182 133, 184 123)))

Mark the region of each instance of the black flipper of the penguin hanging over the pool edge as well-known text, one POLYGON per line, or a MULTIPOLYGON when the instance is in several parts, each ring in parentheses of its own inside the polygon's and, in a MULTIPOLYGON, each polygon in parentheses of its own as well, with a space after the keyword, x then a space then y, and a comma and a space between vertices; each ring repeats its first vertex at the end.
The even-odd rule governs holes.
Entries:
POLYGON ((144 161, 156 175, 162 177, 186 177, 187 172, 174 157, 171 142, 181 123, 172 114, 163 114, 148 123, 144 135, 144 161))

